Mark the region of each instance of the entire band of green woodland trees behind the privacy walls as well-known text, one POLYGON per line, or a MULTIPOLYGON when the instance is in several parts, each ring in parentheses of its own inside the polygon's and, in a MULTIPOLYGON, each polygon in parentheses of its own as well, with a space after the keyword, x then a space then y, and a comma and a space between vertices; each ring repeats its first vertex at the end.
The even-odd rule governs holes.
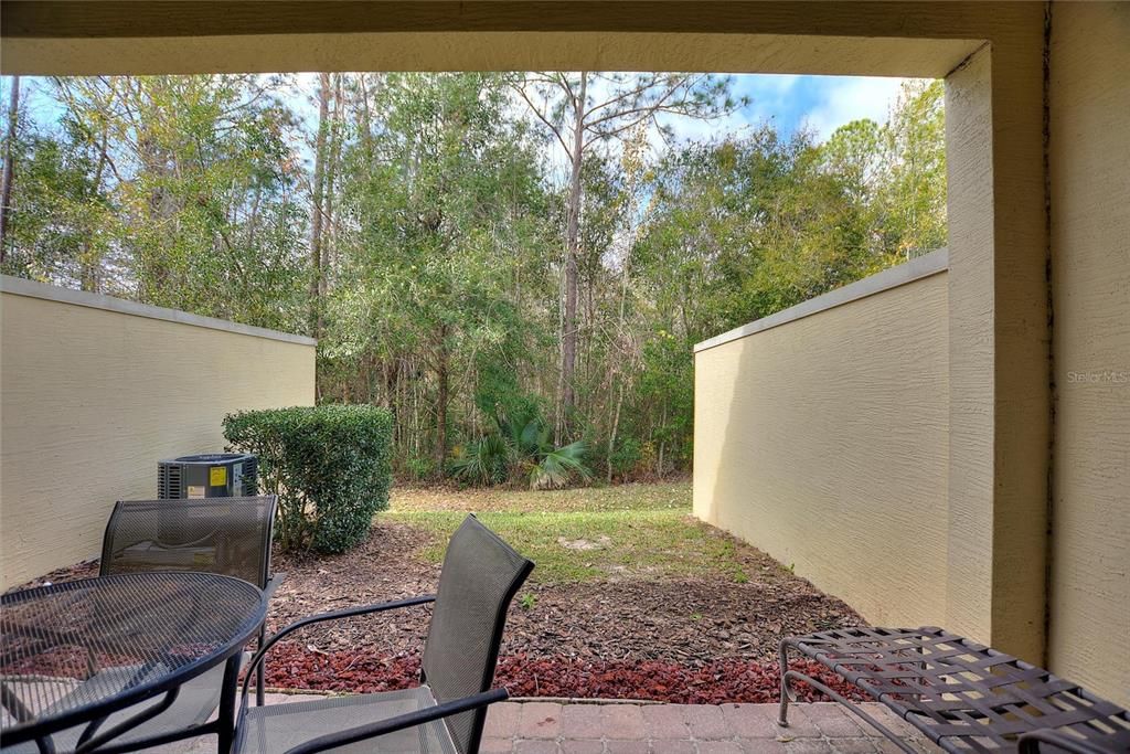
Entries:
POLYGON ((319 400, 388 407, 399 474, 547 487, 687 471, 694 344, 946 243, 939 81, 820 142, 657 139, 727 77, 325 80, 311 123, 293 76, 24 79, 2 271, 316 329, 319 400))

